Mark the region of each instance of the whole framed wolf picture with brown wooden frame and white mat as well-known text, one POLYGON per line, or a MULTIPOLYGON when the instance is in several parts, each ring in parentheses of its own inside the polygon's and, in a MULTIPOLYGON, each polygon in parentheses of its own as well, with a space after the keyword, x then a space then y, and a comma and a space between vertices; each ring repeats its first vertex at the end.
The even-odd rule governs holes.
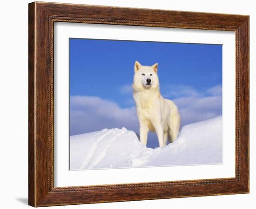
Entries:
POLYGON ((29 205, 249 193, 249 16, 28 15, 29 205))

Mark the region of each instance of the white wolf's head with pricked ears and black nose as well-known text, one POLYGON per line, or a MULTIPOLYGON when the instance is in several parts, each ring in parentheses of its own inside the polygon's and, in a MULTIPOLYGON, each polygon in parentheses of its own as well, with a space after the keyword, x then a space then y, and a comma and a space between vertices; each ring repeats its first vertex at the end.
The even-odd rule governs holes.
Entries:
POLYGON ((134 89, 157 89, 159 81, 157 76, 157 63, 152 66, 142 66, 138 61, 134 65, 134 89))

